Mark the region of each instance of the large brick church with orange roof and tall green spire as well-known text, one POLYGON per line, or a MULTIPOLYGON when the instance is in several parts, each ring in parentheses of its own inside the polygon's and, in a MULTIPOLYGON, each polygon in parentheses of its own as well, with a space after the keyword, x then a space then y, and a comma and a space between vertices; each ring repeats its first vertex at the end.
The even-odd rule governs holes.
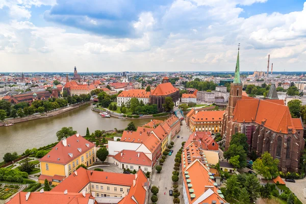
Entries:
POLYGON ((278 99, 274 84, 265 99, 246 96, 242 87, 238 48, 235 78, 222 119, 225 150, 230 146, 232 135, 243 133, 247 137, 249 152, 255 151, 260 157, 268 151, 279 160, 279 170, 297 172, 305 144, 301 118, 291 117, 284 100, 278 99))

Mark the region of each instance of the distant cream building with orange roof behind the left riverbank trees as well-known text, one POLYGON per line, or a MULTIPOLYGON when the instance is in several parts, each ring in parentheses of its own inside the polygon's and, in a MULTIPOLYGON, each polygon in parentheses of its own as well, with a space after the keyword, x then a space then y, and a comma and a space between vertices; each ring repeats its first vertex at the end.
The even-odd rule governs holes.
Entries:
POLYGON ((96 89, 94 85, 78 84, 75 81, 67 82, 63 88, 68 95, 90 94, 94 89, 96 89))

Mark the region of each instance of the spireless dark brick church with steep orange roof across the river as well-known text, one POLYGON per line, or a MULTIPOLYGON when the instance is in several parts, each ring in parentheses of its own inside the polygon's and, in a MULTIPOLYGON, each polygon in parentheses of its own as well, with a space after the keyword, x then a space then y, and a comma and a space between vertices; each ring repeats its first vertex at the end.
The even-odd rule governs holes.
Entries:
POLYGON ((156 104, 159 112, 165 111, 163 104, 165 103, 166 97, 171 97, 175 106, 180 101, 180 90, 174 88, 168 79, 163 79, 162 84, 159 84, 150 94, 149 103, 156 104))

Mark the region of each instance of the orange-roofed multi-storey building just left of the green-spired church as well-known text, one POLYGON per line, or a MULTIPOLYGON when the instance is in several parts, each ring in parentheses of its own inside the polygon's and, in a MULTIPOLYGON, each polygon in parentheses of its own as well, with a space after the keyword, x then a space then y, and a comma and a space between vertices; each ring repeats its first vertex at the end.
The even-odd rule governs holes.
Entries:
POLYGON ((224 111, 193 111, 188 115, 189 129, 194 131, 211 131, 212 133, 221 132, 221 122, 224 111))

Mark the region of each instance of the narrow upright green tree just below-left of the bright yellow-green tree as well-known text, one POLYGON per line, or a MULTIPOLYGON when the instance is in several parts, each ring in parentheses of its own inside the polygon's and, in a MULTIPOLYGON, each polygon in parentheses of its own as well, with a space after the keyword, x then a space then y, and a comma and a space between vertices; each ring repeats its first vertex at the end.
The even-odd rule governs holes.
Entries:
POLYGON ((249 197, 252 200, 256 200, 260 197, 260 182, 258 181, 257 177, 253 174, 248 174, 245 177, 245 182, 241 183, 244 185, 245 189, 247 190, 249 197))

